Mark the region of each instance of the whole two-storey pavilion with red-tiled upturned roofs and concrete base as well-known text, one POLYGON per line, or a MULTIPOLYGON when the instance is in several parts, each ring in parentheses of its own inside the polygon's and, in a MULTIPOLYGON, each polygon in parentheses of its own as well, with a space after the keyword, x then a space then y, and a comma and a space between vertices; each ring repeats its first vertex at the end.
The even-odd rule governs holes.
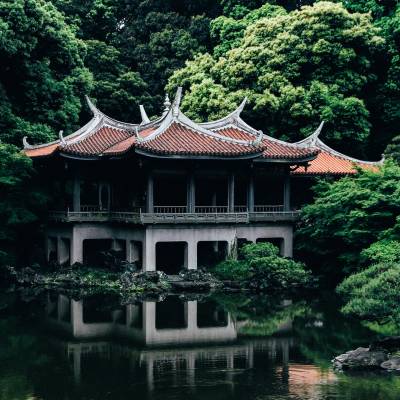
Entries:
POLYGON ((116 121, 87 99, 92 119, 78 131, 25 153, 54 182, 46 248, 60 263, 93 262, 99 248, 123 251, 143 270, 176 273, 227 255, 243 242, 272 241, 292 256, 296 206, 305 182, 376 168, 325 145, 321 126, 287 143, 240 117, 245 100, 217 121, 180 109, 181 88, 161 117, 116 121), (291 196, 294 192, 296 196, 291 196))

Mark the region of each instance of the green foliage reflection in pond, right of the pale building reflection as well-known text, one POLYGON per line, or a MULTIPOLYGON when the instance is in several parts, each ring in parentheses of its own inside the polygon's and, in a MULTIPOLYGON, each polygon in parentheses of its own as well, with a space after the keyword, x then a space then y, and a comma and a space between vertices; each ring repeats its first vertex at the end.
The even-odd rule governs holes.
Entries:
POLYGON ((376 336, 357 320, 346 318, 333 296, 291 301, 277 296, 217 295, 215 300, 236 320, 240 336, 271 336, 291 331, 304 361, 329 367, 330 360, 376 336))

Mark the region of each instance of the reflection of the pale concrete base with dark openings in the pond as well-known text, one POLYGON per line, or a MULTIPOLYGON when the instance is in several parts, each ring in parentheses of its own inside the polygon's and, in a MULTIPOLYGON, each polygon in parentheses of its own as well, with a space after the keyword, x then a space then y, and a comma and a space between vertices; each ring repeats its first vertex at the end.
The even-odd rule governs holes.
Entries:
POLYGON ((49 322, 75 339, 116 337, 148 346, 227 342, 237 337, 231 317, 210 302, 144 301, 114 310, 99 308, 90 300, 49 298, 49 322))

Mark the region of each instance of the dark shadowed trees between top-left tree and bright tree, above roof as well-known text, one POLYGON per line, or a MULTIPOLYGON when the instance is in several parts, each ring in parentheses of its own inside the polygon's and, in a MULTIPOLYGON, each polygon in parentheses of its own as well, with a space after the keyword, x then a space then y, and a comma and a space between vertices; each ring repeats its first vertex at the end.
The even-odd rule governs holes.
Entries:
POLYGON ((149 115, 159 114, 168 77, 207 50, 210 18, 221 11, 211 0, 53 2, 88 45, 92 96, 123 120, 139 118, 139 103, 149 115))

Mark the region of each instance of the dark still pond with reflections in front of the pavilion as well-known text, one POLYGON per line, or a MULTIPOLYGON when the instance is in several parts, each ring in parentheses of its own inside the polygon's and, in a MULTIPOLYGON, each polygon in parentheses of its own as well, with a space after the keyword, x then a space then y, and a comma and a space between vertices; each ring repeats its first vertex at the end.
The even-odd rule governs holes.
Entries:
POLYGON ((376 334, 332 299, 0 297, 0 400, 400 399, 400 377, 336 374, 376 334))

